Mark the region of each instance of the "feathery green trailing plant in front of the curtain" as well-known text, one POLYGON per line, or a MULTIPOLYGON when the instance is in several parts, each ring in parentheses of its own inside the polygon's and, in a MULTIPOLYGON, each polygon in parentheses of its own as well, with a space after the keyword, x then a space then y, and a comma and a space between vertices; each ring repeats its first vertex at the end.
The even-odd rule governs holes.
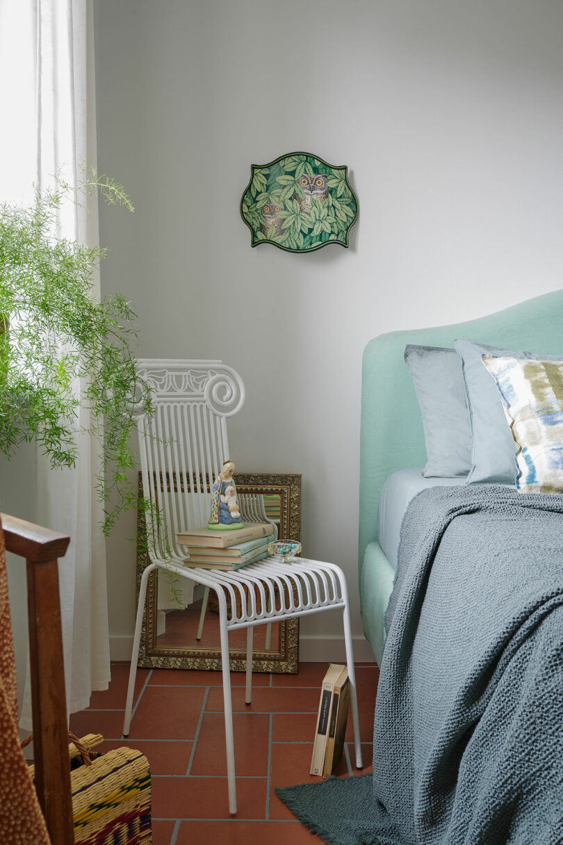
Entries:
MULTIPOLYGON (((133 211, 122 186, 94 171, 78 187, 133 211)), ((107 533, 137 502, 127 478, 135 463, 130 434, 151 401, 135 372, 131 305, 93 292, 105 250, 54 234, 57 211, 72 193, 59 181, 28 208, 0 204, 0 450, 9 458, 35 439, 51 466, 73 466, 78 410, 87 406, 88 431, 100 447, 96 489, 107 533)))

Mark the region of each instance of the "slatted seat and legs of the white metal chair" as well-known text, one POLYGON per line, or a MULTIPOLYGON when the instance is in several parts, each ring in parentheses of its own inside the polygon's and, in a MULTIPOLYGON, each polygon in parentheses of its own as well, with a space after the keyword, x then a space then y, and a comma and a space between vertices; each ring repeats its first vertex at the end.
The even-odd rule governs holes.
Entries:
MULTIPOLYGON (((127 737, 133 710, 133 691, 137 674, 138 649, 143 625, 143 607, 149 575, 162 564, 150 564, 143 572, 138 597, 137 622, 133 639, 133 654, 125 705, 123 736, 127 737)), ((254 625, 266 624, 323 610, 340 609, 343 613, 346 664, 350 684, 350 710, 354 728, 355 761, 362 768, 360 722, 355 686, 354 654, 350 630, 348 590, 344 572, 335 564, 318 560, 295 558, 284 564, 278 557, 260 560, 241 570, 200 570, 197 567, 170 564, 169 569, 182 578, 191 579, 217 592, 219 600, 219 633, 221 642, 221 668, 223 673, 223 698, 225 701, 225 743, 227 751, 227 782, 229 811, 236 813, 235 746, 233 741, 233 715, 230 695, 229 631, 247 629, 246 637, 246 704, 252 695, 252 632, 254 625), (231 615, 227 613, 225 590, 230 597, 231 615), (236 597, 241 599, 241 613, 236 615, 236 597), (260 601, 257 602, 256 597, 260 601)))

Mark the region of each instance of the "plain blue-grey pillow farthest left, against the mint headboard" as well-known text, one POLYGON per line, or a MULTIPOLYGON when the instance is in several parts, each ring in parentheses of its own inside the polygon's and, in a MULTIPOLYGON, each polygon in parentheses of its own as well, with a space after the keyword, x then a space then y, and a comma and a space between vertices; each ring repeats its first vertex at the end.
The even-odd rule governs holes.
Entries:
POLYGON ((466 476, 471 469, 471 421, 459 357, 454 349, 410 344, 404 360, 425 430, 428 460, 423 476, 466 476))

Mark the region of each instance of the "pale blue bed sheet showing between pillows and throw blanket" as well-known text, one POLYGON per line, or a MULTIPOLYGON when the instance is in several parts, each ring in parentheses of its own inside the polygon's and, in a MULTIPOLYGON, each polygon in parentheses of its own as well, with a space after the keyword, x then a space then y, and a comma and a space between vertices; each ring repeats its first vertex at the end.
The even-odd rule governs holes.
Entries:
POLYGON ((393 570, 397 569, 403 516, 414 496, 431 487, 460 487, 465 483, 465 478, 425 478, 422 469, 398 470, 387 478, 377 509, 377 532, 379 545, 393 570))

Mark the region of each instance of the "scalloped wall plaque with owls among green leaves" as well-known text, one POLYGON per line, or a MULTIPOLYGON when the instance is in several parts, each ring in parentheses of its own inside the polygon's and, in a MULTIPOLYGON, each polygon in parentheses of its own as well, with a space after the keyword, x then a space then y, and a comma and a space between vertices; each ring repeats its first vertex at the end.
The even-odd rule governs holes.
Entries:
POLYGON ((358 200, 347 166, 333 166, 311 153, 288 153, 252 165, 241 216, 252 247, 273 243, 290 253, 310 253, 328 243, 348 246, 358 200))

